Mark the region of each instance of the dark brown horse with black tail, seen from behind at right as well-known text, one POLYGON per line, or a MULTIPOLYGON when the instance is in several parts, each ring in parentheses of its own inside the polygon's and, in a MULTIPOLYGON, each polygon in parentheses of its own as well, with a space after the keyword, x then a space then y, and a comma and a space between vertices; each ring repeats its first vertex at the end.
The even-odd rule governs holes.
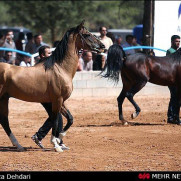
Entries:
MULTIPOLYGON (((176 86, 181 103, 181 48, 164 57, 149 56, 143 53, 126 56, 123 48, 115 44, 108 50, 106 64, 101 74, 115 82, 119 81, 121 74, 123 88, 117 101, 119 119, 124 125, 128 124, 122 111, 124 99, 127 97, 135 107, 136 111, 131 117, 136 118, 141 109, 133 97, 147 82, 162 86, 176 86)), ((180 121, 178 124, 181 124, 180 121)))

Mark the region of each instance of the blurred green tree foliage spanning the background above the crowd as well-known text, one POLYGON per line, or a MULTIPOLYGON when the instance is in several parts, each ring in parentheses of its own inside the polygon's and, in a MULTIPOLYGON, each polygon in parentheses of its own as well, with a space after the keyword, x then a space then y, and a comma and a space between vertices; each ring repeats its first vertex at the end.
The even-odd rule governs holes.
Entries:
POLYGON ((143 1, 1 1, 0 13, 0 25, 23 26, 54 42, 83 19, 90 31, 133 28, 142 23, 143 1))

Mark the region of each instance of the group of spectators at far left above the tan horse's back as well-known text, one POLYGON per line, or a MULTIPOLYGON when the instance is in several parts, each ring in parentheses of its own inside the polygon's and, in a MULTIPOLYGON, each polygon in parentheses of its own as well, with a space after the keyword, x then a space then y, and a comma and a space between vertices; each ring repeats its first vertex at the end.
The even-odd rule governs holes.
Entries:
MULTIPOLYGON (((16 41, 14 41, 14 33, 12 30, 8 30, 5 35, 0 34, 0 47, 3 48, 10 48, 34 54, 37 53, 39 48, 43 45, 48 44, 43 42, 41 34, 33 36, 31 32, 26 35, 23 32, 20 32, 16 41), (25 36, 27 38, 25 38, 25 36)), ((13 51, 0 51, 0 62, 29 67, 31 57, 13 51)))

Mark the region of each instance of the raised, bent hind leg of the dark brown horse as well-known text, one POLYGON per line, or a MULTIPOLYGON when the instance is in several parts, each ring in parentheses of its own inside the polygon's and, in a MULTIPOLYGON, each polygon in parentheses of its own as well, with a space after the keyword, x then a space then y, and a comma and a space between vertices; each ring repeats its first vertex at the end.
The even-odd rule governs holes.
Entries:
POLYGON ((146 85, 146 83, 147 81, 138 82, 128 92, 126 92, 126 97, 135 107, 135 112, 131 115, 132 119, 136 118, 141 112, 140 107, 138 106, 138 104, 136 104, 133 97, 137 92, 139 92, 146 85))

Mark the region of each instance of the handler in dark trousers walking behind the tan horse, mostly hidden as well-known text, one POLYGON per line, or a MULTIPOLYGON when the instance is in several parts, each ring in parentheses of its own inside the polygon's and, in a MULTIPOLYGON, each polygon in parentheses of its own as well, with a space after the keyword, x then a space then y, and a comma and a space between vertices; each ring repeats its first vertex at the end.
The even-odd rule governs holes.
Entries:
MULTIPOLYGON (((40 60, 45 57, 50 56, 51 54, 52 53, 51 53, 49 46, 44 45, 39 48, 40 60)), ((31 138, 40 148, 44 149, 44 146, 42 145, 41 140, 48 134, 50 129, 53 127, 53 123, 51 120, 52 103, 41 103, 41 104, 47 111, 49 117, 45 121, 43 126, 38 130, 38 132, 36 132, 31 138)), ((62 131, 62 127, 63 127, 62 116, 59 113, 59 120, 58 120, 58 132, 59 133, 62 131)), ((59 144, 60 144, 62 150, 69 150, 69 147, 67 147, 67 146, 65 146, 65 144, 63 144, 63 140, 61 140, 59 144)))

